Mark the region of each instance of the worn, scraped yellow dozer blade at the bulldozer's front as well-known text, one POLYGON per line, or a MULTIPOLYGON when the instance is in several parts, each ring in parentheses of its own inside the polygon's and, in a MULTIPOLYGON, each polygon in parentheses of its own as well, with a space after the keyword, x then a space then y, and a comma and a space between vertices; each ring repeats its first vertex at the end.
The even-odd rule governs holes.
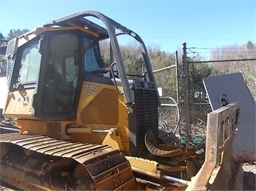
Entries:
POLYGON ((239 123, 239 103, 234 102, 208 114, 206 159, 186 190, 230 189, 234 172, 232 144, 239 123), (218 171, 218 172, 216 172, 218 171), (209 181, 212 184, 209 184, 209 181))

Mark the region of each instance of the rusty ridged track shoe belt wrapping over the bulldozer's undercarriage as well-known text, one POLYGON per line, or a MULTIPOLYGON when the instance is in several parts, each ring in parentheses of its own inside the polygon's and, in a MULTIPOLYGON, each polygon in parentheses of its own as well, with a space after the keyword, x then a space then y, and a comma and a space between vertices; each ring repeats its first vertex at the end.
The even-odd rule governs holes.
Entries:
POLYGON ((49 156, 72 158, 87 168, 97 190, 122 189, 134 181, 130 163, 108 145, 71 143, 42 135, 0 135, 0 143, 18 145, 49 156))

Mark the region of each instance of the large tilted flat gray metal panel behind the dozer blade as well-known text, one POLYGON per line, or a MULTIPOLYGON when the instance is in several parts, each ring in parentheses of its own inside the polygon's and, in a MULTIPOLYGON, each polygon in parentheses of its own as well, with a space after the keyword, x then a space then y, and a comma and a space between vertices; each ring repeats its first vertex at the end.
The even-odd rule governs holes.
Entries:
POLYGON ((253 162, 255 143, 255 100, 243 80, 242 73, 203 78, 212 110, 221 107, 220 96, 227 95, 228 103, 240 102, 239 131, 234 138, 233 153, 238 162, 253 162))

